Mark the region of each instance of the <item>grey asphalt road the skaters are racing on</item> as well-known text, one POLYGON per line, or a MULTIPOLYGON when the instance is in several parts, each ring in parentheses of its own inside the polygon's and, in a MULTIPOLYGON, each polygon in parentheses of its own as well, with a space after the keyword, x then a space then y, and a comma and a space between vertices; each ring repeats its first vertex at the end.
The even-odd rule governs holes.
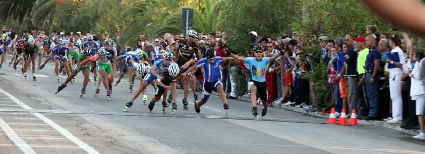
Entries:
MULTIPOLYGON (((132 96, 126 79, 114 86, 111 101, 103 86, 94 98, 93 83, 80 98, 80 74, 54 95, 60 84, 53 68, 37 71, 36 82, 7 63, 0 68, 0 153, 425 153, 425 141, 382 127, 328 125, 278 108, 256 121, 250 103, 235 99, 225 117, 216 95, 201 114, 193 105, 184 111, 181 89, 175 115, 171 108, 163 114, 160 102, 147 112, 141 97, 124 113, 132 96)), ((150 99, 152 87, 147 91, 150 99)))

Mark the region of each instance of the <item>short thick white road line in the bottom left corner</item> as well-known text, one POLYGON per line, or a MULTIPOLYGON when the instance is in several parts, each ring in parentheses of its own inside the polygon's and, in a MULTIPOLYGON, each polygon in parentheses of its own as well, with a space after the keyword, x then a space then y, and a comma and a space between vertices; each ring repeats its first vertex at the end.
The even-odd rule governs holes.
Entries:
POLYGON ((15 131, 12 130, 12 128, 5 122, 3 119, 0 118, 0 127, 2 127, 3 131, 5 131, 7 137, 12 140, 12 142, 19 147, 19 149, 27 153, 35 153, 35 151, 28 146, 27 143, 25 143, 24 140, 19 138, 19 136, 16 135, 15 131))

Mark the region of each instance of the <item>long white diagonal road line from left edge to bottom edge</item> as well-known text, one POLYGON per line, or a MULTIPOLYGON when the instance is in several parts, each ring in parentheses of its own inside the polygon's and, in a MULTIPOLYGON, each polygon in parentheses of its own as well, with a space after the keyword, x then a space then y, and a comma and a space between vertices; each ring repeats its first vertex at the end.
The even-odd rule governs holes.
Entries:
MULTIPOLYGON (((6 96, 10 97, 14 102, 16 102, 18 105, 22 106, 22 108, 24 108, 24 109, 32 109, 30 106, 25 105, 19 99, 17 99, 13 95, 9 94, 8 92, 4 91, 3 89, 0 89, 0 92, 3 93, 3 94, 5 94, 6 96)), ((47 117, 45 117, 45 116, 43 116, 43 115, 41 115, 40 113, 37 113, 37 112, 32 112, 32 114, 34 116, 40 118, 45 123, 47 123, 46 125, 50 125, 53 128, 55 128, 57 131, 59 131, 60 134, 62 134, 66 138, 70 139, 73 143, 75 143, 76 145, 78 145, 80 148, 84 149, 84 151, 86 151, 87 153, 95 153, 95 154, 98 154, 99 153, 95 149, 93 149, 92 147, 90 147, 89 145, 87 145, 86 143, 82 142, 80 139, 76 138, 68 130, 66 130, 66 129, 62 128, 61 126, 57 125, 56 123, 54 123, 49 118, 47 118, 47 117)))

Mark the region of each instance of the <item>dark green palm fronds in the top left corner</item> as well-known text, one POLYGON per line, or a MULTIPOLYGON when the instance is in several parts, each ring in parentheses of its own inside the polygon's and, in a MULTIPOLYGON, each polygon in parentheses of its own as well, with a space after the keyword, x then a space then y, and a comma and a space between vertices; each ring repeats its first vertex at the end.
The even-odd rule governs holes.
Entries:
POLYGON ((18 20, 22 23, 25 16, 29 16, 35 0, 3 0, 0 2, 0 21, 6 19, 18 20))

